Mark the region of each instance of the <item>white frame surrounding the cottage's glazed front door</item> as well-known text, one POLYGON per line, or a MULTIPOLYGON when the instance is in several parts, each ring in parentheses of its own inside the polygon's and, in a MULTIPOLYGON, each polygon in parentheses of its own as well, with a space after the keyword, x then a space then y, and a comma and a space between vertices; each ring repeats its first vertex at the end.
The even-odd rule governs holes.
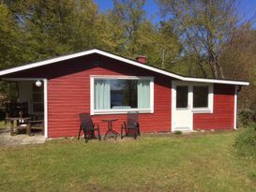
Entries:
POLYGON ((193 112, 192 112, 192 86, 187 81, 172 81, 172 127, 171 131, 177 131, 180 129, 175 129, 175 112, 176 112, 176 86, 177 85, 188 85, 188 130, 186 131, 193 131, 193 112))

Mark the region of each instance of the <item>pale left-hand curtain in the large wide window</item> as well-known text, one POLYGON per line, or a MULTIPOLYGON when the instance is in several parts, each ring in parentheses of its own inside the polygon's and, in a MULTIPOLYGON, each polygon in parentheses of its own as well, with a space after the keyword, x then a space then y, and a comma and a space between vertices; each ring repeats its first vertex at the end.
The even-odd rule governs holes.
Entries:
POLYGON ((95 80, 95 110, 111 109, 111 85, 108 80, 95 80))

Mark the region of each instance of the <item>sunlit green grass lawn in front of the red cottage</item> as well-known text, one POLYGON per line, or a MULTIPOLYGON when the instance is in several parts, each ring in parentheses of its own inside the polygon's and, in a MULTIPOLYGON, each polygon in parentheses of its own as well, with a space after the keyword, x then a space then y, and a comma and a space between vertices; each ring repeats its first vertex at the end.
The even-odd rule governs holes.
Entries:
POLYGON ((0 191, 256 191, 237 132, 0 148, 0 191))

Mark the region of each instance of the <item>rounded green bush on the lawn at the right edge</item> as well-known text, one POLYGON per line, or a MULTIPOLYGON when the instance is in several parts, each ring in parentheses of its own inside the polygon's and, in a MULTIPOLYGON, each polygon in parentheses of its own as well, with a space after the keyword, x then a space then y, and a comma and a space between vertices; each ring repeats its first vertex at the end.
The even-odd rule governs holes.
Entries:
POLYGON ((256 125, 250 124, 243 128, 236 137, 234 146, 240 155, 256 159, 256 125))

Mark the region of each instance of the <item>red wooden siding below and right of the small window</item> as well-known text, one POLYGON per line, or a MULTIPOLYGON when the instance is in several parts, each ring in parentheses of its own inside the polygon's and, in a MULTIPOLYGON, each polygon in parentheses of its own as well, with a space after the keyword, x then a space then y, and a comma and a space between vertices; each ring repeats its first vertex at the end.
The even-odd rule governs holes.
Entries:
POLYGON ((234 86, 214 85, 214 112, 193 114, 194 129, 233 129, 234 86))

